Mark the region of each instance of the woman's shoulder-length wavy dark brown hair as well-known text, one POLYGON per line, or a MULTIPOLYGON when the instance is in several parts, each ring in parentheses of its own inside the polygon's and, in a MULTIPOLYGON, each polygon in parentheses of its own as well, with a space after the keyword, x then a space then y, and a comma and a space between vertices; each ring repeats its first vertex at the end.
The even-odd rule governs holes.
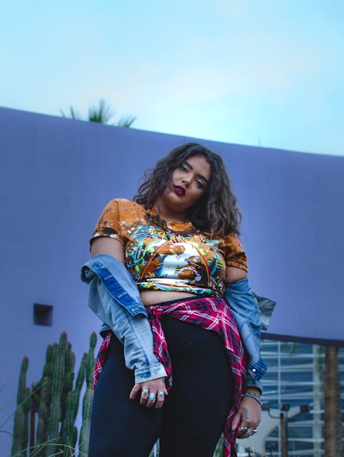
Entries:
POLYGON ((188 217, 197 229, 212 235, 239 235, 241 213, 237 208, 237 198, 230 189, 230 180, 222 158, 215 152, 195 142, 189 142, 173 149, 167 156, 158 160, 154 169, 144 173, 144 182, 133 200, 145 209, 153 208, 164 189, 171 183, 173 171, 191 156, 202 156, 211 167, 211 180, 206 191, 189 209, 188 217))

